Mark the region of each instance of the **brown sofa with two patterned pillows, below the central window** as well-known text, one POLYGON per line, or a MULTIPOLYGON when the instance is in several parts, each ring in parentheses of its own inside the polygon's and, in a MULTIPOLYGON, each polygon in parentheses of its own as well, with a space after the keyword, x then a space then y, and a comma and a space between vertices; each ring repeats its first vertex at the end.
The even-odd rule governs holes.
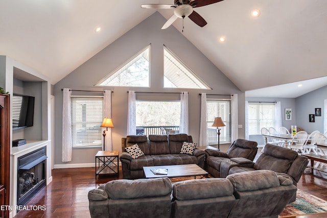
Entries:
POLYGON ((174 134, 168 136, 149 135, 148 139, 145 135, 129 135, 126 138, 122 138, 123 152, 120 155, 120 160, 122 162, 123 178, 145 178, 143 166, 195 163, 203 168, 204 151, 195 149, 193 155, 180 154, 184 141, 193 142, 192 136, 187 134, 174 134), (125 151, 125 148, 136 143, 145 155, 133 159, 132 156, 125 151))

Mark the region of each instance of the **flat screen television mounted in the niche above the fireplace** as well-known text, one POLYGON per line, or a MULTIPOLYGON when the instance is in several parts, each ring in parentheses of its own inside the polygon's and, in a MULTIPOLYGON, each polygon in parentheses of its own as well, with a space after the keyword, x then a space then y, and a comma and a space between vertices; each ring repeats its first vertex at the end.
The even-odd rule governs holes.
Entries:
POLYGON ((33 96, 13 94, 12 96, 12 128, 21 129, 33 126, 34 119, 33 96))

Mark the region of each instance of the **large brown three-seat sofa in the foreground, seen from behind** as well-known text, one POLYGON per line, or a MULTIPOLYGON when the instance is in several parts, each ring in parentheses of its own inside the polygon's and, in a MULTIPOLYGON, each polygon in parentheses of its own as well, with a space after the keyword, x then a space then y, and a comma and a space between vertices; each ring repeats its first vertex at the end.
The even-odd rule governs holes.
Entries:
POLYGON ((88 192, 92 218, 277 217, 297 188, 273 171, 171 184, 168 178, 113 180, 88 192))

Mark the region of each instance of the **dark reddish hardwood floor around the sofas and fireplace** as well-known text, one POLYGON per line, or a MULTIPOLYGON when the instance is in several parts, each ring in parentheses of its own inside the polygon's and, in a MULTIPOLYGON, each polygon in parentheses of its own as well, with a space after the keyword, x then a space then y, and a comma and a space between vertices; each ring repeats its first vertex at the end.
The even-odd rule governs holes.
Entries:
MULTIPOLYGON (((260 151, 258 153, 260 154, 260 151)), ((319 167, 324 168, 327 172, 327 164, 320 163, 319 167)), ((87 199, 88 191, 110 180, 122 179, 120 171, 119 177, 98 176, 97 180, 95 180, 94 167, 53 169, 52 176, 53 181, 28 203, 31 206, 44 205, 46 210, 19 211, 15 216, 16 218, 90 217, 87 199)), ((315 170, 311 174, 311 169, 307 168, 300 178, 298 188, 327 201, 327 173, 315 170)), ((320 218, 327 217, 327 213, 296 217, 320 218)))

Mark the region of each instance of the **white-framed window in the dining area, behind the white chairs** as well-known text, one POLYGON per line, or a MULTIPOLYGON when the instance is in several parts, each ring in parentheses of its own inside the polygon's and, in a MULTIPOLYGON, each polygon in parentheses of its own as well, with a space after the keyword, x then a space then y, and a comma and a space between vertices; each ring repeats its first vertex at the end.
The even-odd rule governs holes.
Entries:
POLYGON ((249 135, 260 135, 261 128, 275 126, 274 103, 250 103, 248 104, 249 135))

